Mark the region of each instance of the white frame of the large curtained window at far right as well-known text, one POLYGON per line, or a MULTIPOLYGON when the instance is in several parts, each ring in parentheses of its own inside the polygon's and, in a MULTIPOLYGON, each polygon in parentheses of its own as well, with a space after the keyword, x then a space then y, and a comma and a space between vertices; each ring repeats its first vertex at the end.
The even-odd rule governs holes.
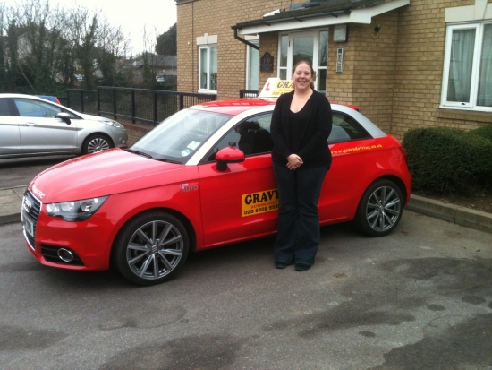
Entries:
POLYGON ((492 24, 492 22, 474 22, 474 23, 466 23, 466 24, 452 24, 446 27, 445 63, 444 63, 443 83, 442 83, 442 91, 441 91, 441 104, 439 108, 492 112, 492 107, 477 105, 478 91, 479 91, 480 57, 483 47, 483 33, 484 33, 484 27, 490 24, 492 24), (450 69, 451 51, 452 51, 451 48, 452 48, 454 30, 475 30, 473 64, 471 67, 470 101, 447 101, 449 69, 450 69))

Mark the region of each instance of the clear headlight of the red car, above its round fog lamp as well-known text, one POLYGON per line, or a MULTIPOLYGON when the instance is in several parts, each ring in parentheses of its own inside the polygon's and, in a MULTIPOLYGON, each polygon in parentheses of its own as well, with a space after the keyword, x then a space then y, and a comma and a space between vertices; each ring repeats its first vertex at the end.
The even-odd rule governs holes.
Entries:
POLYGON ((84 199, 83 201, 49 203, 47 204, 47 215, 59 217, 65 221, 75 222, 89 219, 99 207, 106 202, 107 196, 84 199))

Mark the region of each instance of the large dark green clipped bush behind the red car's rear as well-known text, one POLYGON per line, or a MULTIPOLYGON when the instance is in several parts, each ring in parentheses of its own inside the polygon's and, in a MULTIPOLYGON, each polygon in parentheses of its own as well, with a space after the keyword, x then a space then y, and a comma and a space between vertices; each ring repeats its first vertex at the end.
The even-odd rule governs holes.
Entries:
POLYGON ((403 137, 415 190, 468 194, 492 180, 492 141, 447 127, 411 129, 403 137))

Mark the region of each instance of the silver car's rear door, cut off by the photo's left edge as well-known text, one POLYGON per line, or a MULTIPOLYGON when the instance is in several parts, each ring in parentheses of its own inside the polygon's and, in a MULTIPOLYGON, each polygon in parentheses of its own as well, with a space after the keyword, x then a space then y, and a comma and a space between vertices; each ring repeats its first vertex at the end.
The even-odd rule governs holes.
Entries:
POLYGON ((0 157, 21 153, 19 122, 12 115, 9 99, 0 99, 0 157))

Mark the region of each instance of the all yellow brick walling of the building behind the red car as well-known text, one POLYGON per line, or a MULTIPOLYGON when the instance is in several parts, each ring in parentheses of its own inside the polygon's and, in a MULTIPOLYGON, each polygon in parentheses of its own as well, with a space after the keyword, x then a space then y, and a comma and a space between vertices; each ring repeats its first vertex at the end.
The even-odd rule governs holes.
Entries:
MULTIPOLYGON (((196 38, 208 33, 218 35, 217 99, 238 97, 246 84, 246 46, 233 38, 231 26, 275 9, 288 9, 290 4, 290 0, 178 3, 178 90, 198 91, 196 38)), ((489 112, 439 108, 445 8, 473 4, 475 0, 411 0, 409 5, 378 15, 369 25, 351 23, 344 43, 333 41, 333 27, 329 27, 327 98, 359 106, 361 113, 399 139, 413 127, 470 130, 492 123, 489 112), (378 33, 377 25, 381 27, 378 33), (335 72, 337 47, 344 47, 343 73, 335 72)), ((278 34, 261 34, 259 46, 260 56, 265 52, 274 56, 274 73, 259 73, 261 89, 268 77, 276 76, 278 34)))

